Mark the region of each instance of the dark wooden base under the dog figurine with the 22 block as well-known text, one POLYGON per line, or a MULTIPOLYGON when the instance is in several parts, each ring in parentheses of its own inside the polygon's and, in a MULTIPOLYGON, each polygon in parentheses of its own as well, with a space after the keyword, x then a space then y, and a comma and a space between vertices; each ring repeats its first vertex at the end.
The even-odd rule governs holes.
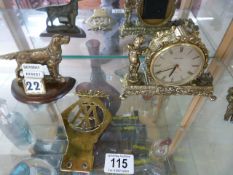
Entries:
POLYGON ((12 95, 20 102, 31 104, 50 103, 66 95, 75 85, 76 80, 71 77, 64 77, 64 82, 46 83, 46 94, 27 95, 23 84, 14 79, 11 84, 12 95))

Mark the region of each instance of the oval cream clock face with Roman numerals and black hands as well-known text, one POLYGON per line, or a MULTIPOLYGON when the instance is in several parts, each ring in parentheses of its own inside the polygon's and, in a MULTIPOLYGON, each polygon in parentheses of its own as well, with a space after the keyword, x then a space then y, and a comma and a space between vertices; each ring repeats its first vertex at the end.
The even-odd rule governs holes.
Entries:
POLYGON ((152 56, 150 71, 162 85, 182 85, 199 76, 205 65, 202 50, 187 43, 166 47, 152 56))

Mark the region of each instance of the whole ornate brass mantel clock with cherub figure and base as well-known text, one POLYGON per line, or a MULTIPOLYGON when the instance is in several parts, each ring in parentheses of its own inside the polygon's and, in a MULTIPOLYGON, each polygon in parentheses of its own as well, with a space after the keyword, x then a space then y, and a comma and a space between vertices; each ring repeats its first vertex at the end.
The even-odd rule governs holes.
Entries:
POLYGON ((146 48, 142 44, 143 36, 139 35, 128 45, 130 65, 122 80, 122 98, 141 94, 200 95, 216 99, 213 77, 205 71, 208 51, 191 20, 156 32, 146 48), (142 63, 141 55, 145 56, 142 63))

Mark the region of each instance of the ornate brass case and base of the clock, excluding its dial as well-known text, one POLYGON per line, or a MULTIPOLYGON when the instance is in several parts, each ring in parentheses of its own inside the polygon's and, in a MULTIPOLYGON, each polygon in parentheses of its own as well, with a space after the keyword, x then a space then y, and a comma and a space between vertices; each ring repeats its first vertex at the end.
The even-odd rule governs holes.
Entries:
MULTIPOLYGON (((141 48, 136 48, 135 52, 140 52, 140 50, 141 48)), ((124 86, 124 91, 121 95, 122 98, 141 94, 200 95, 210 97, 211 100, 216 99, 213 95, 213 77, 210 73, 205 73, 208 51, 199 38, 198 27, 191 20, 183 20, 180 25, 172 26, 168 30, 157 32, 148 44, 148 47, 144 48, 143 54, 145 55, 145 60, 141 64, 142 71, 137 72, 137 74, 140 75, 138 76, 140 79, 135 82, 131 81, 130 77, 133 76, 131 71, 125 75, 122 80, 124 86), (164 50, 169 51, 170 48, 177 45, 187 45, 190 48, 197 49, 197 53, 200 53, 202 64, 200 64, 195 75, 190 75, 190 77, 183 82, 167 83, 159 81, 153 71, 155 69, 156 55, 160 56, 164 50)), ((173 68, 171 73, 174 72, 175 68, 176 67, 173 68)))

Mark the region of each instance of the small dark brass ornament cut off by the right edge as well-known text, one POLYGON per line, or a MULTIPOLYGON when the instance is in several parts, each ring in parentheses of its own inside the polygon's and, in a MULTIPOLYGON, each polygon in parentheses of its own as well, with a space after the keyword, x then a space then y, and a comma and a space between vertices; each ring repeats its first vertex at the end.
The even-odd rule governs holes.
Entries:
POLYGON ((228 89, 228 94, 226 99, 228 101, 228 106, 226 113, 224 115, 224 120, 233 122, 233 87, 230 87, 228 89))

